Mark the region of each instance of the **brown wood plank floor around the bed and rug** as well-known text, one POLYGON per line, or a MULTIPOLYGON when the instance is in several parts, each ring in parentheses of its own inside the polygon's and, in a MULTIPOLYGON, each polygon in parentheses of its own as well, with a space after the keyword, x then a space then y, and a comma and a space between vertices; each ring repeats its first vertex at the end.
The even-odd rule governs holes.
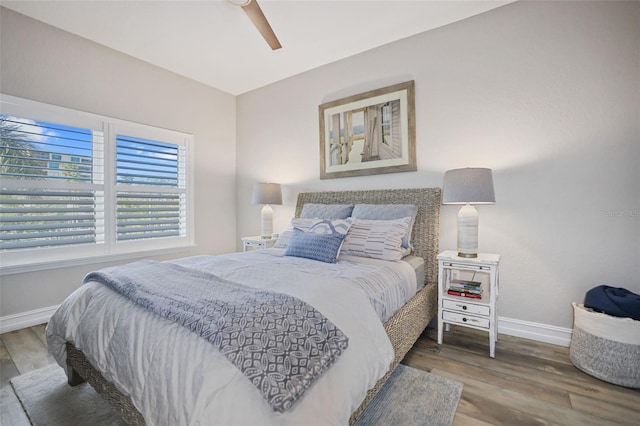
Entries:
MULTIPOLYGON (((0 335, 0 421, 29 425, 9 380, 54 363, 44 325, 0 335)), ((500 335, 489 358, 486 333, 452 327, 443 345, 427 330, 404 364, 464 384, 454 425, 640 425, 640 390, 582 373, 569 349, 500 335)))

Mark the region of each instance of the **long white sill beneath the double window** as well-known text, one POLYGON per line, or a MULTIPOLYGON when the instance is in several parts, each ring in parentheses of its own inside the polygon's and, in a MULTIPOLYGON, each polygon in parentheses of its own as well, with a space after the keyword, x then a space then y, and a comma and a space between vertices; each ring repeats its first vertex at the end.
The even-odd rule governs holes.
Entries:
MULTIPOLYGON (((163 248, 157 250, 144 250, 144 251, 135 251, 135 252, 127 252, 127 253, 117 253, 110 255, 100 255, 100 256, 87 256, 87 257, 78 257, 75 259, 64 259, 64 260, 50 260, 43 261, 37 263, 30 263, 24 265, 8 265, 8 266, 0 266, 0 276, 4 275, 14 275, 14 274, 23 274, 26 272, 37 272, 37 271, 46 271, 49 269, 60 269, 60 268, 69 268, 74 266, 81 265, 90 265, 92 263, 108 263, 108 262, 118 262, 122 260, 133 261, 135 259, 152 257, 152 256, 160 256, 165 254, 175 254, 175 253, 186 253, 193 251, 196 248, 196 245, 188 245, 182 247, 171 247, 171 248, 163 248)), ((127 262, 127 263, 128 263, 127 262)))

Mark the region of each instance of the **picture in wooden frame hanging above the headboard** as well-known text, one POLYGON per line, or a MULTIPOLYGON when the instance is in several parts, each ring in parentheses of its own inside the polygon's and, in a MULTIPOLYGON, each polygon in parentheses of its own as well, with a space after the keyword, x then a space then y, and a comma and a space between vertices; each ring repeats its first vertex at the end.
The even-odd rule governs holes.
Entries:
POLYGON ((414 172, 414 82, 320 105, 320 179, 414 172))

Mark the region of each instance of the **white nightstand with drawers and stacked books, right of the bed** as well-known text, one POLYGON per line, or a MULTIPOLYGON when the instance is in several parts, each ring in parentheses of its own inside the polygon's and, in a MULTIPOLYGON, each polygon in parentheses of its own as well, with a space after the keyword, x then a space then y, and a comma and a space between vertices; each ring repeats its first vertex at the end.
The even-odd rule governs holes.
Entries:
MULTIPOLYGON (((442 344, 445 327, 462 325, 489 332, 489 355, 495 358, 498 340, 498 266, 500 255, 479 253, 478 257, 458 257, 456 251, 448 250, 438 255, 438 344, 442 344), (463 297, 448 293, 452 280, 479 283, 467 285, 470 296, 481 289, 480 298, 463 297)), ((455 282, 455 281, 454 281, 455 282)), ((464 286, 464 283, 459 283, 464 286)))

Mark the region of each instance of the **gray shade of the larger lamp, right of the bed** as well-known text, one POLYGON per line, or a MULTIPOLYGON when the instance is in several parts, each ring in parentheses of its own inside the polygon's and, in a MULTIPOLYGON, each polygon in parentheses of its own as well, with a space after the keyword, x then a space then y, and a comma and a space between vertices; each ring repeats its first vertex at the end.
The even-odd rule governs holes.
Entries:
POLYGON ((448 170, 442 185, 442 204, 493 204, 491 169, 471 168, 448 170))

